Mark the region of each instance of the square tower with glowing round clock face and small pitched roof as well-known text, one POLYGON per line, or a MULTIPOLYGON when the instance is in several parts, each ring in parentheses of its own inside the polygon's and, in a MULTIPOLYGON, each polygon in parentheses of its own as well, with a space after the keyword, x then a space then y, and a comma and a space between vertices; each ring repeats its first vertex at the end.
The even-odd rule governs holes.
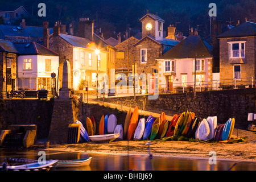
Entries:
POLYGON ((158 14, 148 13, 140 19, 142 23, 142 38, 151 36, 155 40, 163 39, 163 23, 164 20, 158 14))

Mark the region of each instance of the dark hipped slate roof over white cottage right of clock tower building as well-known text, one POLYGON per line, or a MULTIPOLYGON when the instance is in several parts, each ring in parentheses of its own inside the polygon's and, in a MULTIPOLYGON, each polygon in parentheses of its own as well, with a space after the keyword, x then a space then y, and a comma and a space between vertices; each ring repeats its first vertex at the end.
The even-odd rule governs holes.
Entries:
POLYGON ((195 53, 197 58, 213 57, 212 46, 209 43, 203 41, 199 35, 189 35, 158 59, 195 58, 195 53))

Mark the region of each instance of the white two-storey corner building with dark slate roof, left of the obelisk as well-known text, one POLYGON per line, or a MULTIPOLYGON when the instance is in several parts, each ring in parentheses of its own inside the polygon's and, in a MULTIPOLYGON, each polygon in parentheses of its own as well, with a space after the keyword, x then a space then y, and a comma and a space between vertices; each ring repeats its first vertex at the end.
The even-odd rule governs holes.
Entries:
POLYGON ((18 90, 52 90, 51 73, 56 74, 57 81, 59 55, 35 42, 16 43, 15 47, 20 53, 17 59, 18 90))

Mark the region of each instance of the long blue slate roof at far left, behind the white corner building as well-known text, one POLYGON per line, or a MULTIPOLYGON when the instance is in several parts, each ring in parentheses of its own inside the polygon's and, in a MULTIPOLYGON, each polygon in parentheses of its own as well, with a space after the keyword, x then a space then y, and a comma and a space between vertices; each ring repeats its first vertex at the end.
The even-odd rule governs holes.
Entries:
MULTIPOLYGON (((26 26, 22 28, 15 25, 6 25, 0 24, 0 31, 5 36, 24 36, 24 37, 34 37, 34 38, 43 38, 43 29, 44 27, 34 27, 26 26)), ((53 33, 53 28, 49 28, 49 34, 53 33)))

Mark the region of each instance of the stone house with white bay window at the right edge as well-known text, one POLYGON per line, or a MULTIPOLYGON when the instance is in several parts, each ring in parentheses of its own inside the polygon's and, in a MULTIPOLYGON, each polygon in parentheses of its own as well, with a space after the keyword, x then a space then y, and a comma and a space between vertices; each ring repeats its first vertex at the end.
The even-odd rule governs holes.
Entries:
POLYGON ((234 85, 233 81, 225 79, 236 78, 237 85, 251 85, 256 76, 256 23, 245 21, 217 38, 220 40, 221 82, 234 85))

